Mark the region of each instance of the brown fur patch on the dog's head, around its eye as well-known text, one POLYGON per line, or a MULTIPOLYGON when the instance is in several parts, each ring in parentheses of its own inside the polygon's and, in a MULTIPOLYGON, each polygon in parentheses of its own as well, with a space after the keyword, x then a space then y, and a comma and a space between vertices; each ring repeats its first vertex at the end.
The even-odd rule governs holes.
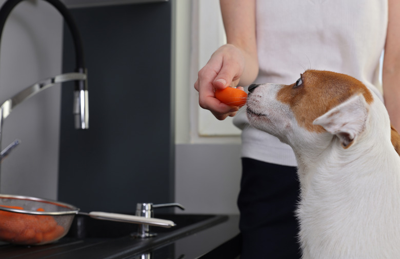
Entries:
POLYGON ((325 131, 322 126, 312 124, 314 119, 354 94, 362 93, 368 104, 373 101, 367 87, 349 75, 307 70, 302 74, 302 81, 303 84, 295 88, 295 84, 283 87, 277 99, 291 107, 297 123, 308 131, 325 131))

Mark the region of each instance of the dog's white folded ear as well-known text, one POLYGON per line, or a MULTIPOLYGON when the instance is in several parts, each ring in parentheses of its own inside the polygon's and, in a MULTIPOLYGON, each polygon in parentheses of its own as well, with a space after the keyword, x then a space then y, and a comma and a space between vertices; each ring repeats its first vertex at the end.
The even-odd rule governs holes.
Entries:
POLYGON ((326 131, 336 135, 342 146, 348 148, 364 131, 367 116, 365 98, 362 94, 357 94, 316 118, 313 124, 321 125, 326 131))

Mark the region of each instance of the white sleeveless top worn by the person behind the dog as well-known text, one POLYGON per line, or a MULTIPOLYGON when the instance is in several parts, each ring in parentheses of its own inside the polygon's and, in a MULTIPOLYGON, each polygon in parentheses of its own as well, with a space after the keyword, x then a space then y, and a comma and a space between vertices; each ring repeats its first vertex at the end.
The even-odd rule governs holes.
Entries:
MULTIPOLYGON (((306 69, 351 75, 382 98, 379 59, 387 0, 257 0, 259 74, 254 83, 293 84, 306 69)), ((296 166, 291 148, 248 124, 239 112, 242 157, 296 166)))

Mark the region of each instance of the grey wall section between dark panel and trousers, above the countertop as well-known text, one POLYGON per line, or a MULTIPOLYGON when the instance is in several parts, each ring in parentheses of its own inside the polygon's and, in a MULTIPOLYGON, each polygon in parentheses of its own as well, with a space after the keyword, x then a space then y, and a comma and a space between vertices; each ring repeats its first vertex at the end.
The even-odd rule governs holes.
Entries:
POLYGON ((238 213, 240 149, 238 144, 175 146, 175 198, 184 213, 238 213))

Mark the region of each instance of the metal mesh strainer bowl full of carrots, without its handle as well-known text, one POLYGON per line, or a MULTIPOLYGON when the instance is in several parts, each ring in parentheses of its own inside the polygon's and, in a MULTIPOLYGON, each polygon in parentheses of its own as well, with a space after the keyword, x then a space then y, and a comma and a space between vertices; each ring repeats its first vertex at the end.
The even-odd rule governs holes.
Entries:
POLYGON ((0 241, 43 245, 65 236, 79 209, 41 198, 0 194, 0 241))

